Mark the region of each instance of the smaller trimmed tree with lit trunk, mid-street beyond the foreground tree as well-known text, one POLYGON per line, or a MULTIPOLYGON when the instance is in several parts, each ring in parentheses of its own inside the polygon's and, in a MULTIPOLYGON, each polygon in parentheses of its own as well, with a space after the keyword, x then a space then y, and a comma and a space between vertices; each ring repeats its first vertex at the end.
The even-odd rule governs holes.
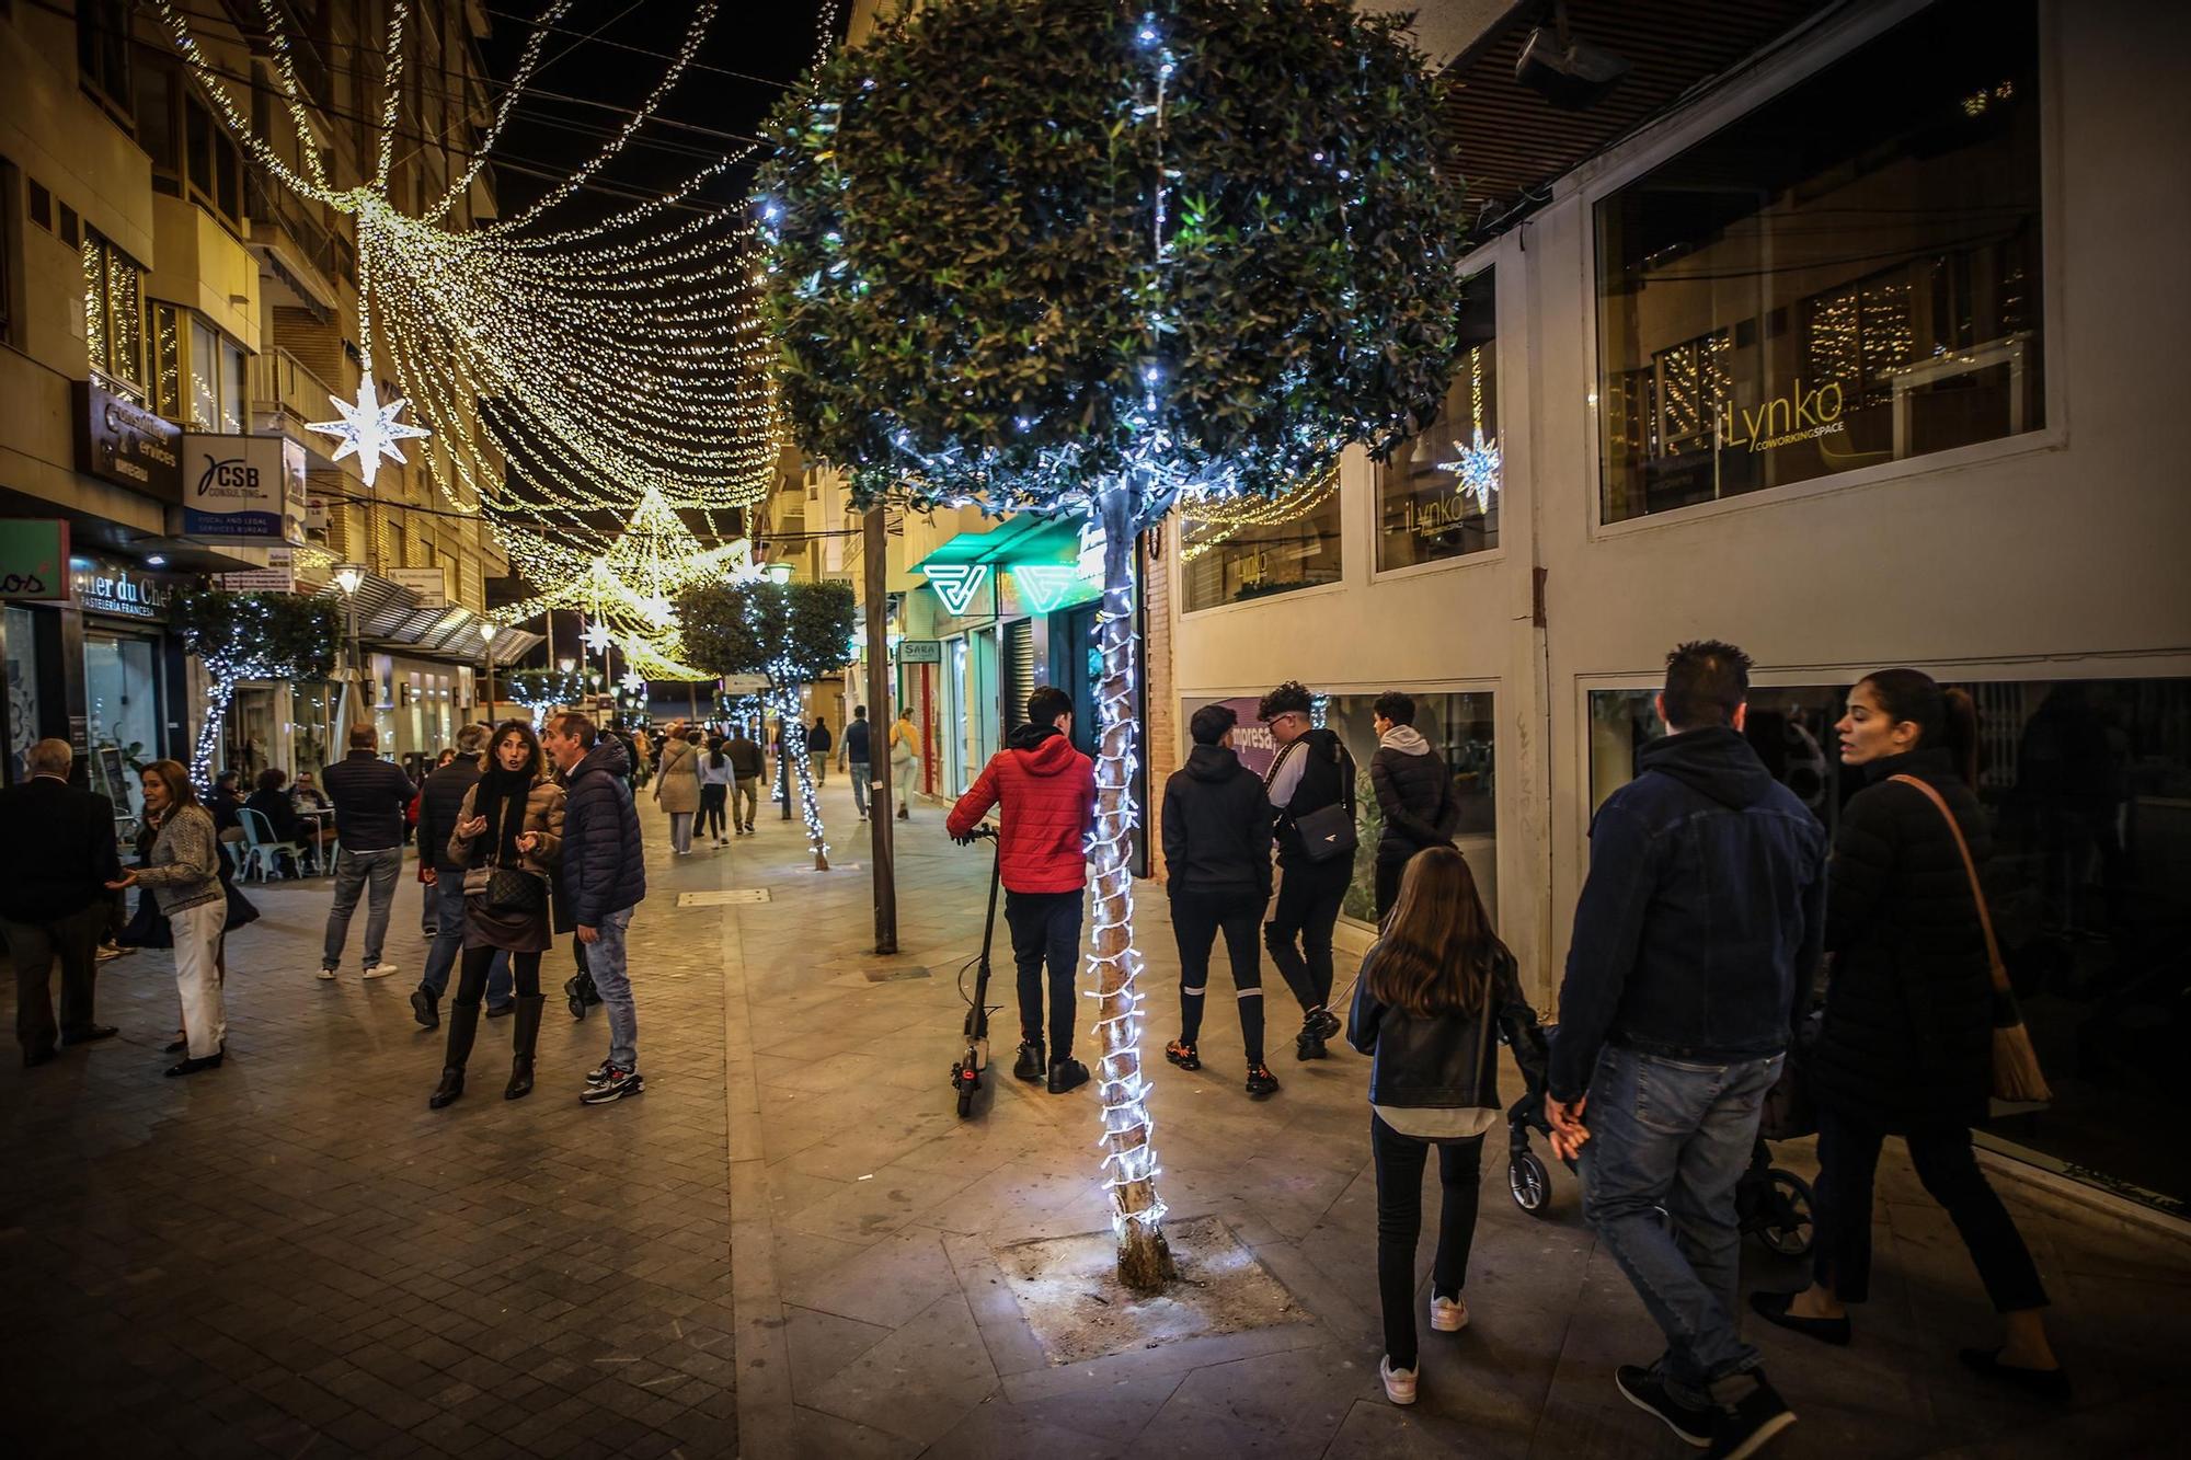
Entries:
POLYGON ((684 651, 712 675, 760 675, 767 706, 784 728, 784 754, 800 778, 800 815, 815 870, 828 870, 822 802, 806 761, 806 717, 800 686, 844 669, 852 658, 850 583, 771 583, 749 577, 699 583, 677 596, 684 651))

